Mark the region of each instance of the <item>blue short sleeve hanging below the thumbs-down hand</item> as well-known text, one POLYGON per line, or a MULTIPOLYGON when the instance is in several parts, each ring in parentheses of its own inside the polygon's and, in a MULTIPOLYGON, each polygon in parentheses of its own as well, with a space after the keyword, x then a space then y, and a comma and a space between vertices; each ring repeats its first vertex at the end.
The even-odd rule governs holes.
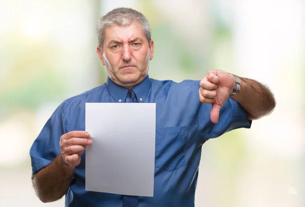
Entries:
MULTIPOLYGON (((199 83, 197 87, 199 90, 199 83)), ((251 128, 252 121, 247 119, 246 110, 235 100, 229 98, 221 107, 217 124, 210 120, 211 107, 211 104, 202 104, 199 101, 198 128, 203 141, 219 137, 234 129, 251 128)))

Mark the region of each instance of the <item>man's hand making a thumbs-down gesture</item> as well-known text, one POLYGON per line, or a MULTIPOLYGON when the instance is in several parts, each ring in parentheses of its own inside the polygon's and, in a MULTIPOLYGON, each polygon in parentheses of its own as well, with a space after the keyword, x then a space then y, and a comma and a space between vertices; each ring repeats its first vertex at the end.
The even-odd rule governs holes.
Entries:
POLYGON ((199 100, 201 103, 212 104, 212 123, 218 122, 220 109, 232 93, 234 84, 233 75, 219 70, 208 71, 200 81, 199 100))

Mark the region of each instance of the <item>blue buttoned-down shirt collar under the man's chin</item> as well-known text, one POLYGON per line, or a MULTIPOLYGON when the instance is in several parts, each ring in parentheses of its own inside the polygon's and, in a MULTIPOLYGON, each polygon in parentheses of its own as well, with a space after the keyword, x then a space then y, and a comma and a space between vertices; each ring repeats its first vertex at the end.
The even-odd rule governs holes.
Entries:
MULTIPOLYGON (((117 85, 109 78, 109 76, 107 77, 106 86, 109 94, 114 98, 116 102, 125 102, 128 88, 117 85)), ((147 75, 142 82, 132 88, 140 103, 144 102, 146 96, 148 95, 150 87, 151 81, 149 76, 147 75)))

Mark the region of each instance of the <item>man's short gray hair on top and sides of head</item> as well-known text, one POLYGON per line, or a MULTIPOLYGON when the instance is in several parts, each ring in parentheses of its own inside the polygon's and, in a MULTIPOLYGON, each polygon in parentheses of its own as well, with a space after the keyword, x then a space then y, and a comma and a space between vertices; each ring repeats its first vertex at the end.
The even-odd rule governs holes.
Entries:
POLYGON ((150 39, 151 32, 148 20, 146 17, 130 8, 116 8, 102 16, 97 24, 97 33, 98 33, 98 41, 99 46, 101 46, 101 50, 103 51, 103 44, 105 38, 105 30, 107 27, 118 25, 118 26, 128 26, 134 22, 139 22, 142 26, 143 33, 146 36, 150 47, 150 39))

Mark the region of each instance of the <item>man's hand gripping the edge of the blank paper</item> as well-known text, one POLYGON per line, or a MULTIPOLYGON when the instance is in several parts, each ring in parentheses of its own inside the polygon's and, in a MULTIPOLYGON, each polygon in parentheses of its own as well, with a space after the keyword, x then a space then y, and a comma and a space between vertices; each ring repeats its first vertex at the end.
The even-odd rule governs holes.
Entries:
POLYGON ((80 158, 87 145, 91 145, 90 133, 86 131, 71 131, 60 137, 60 151, 63 160, 71 167, 80 163, 80 158))

